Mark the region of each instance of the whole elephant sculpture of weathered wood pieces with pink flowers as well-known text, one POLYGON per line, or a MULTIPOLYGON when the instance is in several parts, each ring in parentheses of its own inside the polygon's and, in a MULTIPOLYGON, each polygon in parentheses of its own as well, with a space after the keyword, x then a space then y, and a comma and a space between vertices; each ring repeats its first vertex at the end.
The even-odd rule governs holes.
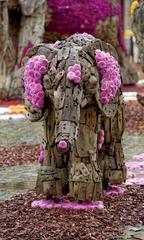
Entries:
POLYGON ((32 48, 24 62, 28 118, 44 127, 37 193, 101 198, 108 183, 126 179, 115 49, 89 34, 74 34, 32 48))

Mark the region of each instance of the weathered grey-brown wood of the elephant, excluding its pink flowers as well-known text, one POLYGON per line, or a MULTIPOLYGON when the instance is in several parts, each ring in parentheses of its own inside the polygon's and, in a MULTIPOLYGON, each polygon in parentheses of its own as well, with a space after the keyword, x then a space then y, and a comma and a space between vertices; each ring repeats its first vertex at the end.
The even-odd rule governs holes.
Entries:
MULTIPOLYGON (((60 42, 57 49, 48 44, 39 45, 28 54, 30 58, 45 52, 49 60, 43 77, 48 107, 40 114, 44 126, 44 162, 36 184, 37 192, 48 197, 67 194, 70 199, 80 201, 100 199, 103 186, 126 180, 121 142, 124 130, 122 92, 119 89, 109 104, 101 104, 101 75, 94 60, 96 49, 107 49, 117 58, 111 45, 83 34, 60 42), (78 63, 82 69, 80 85, 66 78, 68 66, 78 63), (98 150, 100 129, 105 132, 105 141, 98 150), (70 146, 67 152, 57 149, 57 142, 62 139, 70 146)), ((40 110, 29 102, 26 107, 37 121, 40 110)))

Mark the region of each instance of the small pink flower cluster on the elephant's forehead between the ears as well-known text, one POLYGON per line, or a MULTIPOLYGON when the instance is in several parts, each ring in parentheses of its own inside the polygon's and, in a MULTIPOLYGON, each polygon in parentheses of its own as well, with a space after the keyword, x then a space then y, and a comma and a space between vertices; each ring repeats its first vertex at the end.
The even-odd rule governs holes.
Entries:
POLYGON ((80 64, 74 64, 68 67, 67 79, 74 83, 79 84, 81 81, 81 66, 80 64))

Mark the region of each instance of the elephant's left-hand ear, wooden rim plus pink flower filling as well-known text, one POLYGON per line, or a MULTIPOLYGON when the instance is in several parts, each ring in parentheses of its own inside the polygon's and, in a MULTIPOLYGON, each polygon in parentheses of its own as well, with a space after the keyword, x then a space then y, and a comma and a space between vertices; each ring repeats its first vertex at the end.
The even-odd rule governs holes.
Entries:
POLYGON ((57 54, 52 44, 39 44, 31 48, 23 60, 23 83, 25 106, 34 121, 43 115, 45 104, 44 77, 49 71, 49 64, 57 54))

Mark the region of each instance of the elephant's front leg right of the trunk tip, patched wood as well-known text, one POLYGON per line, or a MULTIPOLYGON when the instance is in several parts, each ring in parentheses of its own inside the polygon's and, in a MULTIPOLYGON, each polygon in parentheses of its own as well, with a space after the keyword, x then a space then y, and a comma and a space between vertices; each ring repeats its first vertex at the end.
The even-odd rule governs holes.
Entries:
POLYGON ((76 156, 72 159, 69 171, 68 196, 79 201, 101 198, 102 180, 96 153, 90 153, 88 157, 76 156))

